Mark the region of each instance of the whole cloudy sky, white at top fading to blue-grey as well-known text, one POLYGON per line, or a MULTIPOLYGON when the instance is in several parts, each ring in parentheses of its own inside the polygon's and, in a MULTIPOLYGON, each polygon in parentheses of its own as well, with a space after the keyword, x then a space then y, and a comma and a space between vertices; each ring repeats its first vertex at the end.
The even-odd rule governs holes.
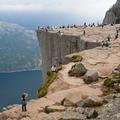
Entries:
POLYGON ((32 30, 37 29, 37 26, 102 23, 106 11, 115 2, 116 0, 0 0, 0 21, 19 24, 32 30))

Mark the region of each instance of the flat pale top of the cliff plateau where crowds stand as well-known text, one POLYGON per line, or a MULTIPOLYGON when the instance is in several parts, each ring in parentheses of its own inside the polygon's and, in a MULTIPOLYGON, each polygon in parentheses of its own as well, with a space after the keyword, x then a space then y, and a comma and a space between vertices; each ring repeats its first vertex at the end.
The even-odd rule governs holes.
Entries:
MULTIPOLYGON (((59 31, 63 32, 64 35, 69 36, 80 36, 82 40, 88 41, 88 42, 101 42, 107 38, 108 35, 110 35, 111 39, 115 38, 116 35, 116 29, 120 28, 120 24, 118 25, 106 25, 103 28, 102 27, 77 27, 77 28, 61 28, 61 29, 53 29, 48 30, 48 33, 57 34, 59 31), (83 35, 85 30, 85 36, 83 35)), ((38 30, 38 32, 43 32, 45 30, 38 30)), ((45 31, 46 32, 46 31, 45 31)))

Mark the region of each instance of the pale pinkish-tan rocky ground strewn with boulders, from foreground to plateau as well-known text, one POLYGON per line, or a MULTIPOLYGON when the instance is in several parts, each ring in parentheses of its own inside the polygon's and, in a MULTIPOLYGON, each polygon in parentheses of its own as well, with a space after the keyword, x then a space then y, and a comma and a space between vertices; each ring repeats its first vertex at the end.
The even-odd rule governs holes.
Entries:
MULTIPOLYGON (((82 61, 63 65, 45 97, 30 101, 26 113, 21 112, 21 106, 0 113, 0 120, 120 120, 120 94, 103 95, 106 78, 113 72, 120 74, 116 69, 120 64, 120 38, 114 40, 116 27, 119 25, 86 28, 83 39, 102 41, 110 34, 110 47, 75 53, 82 61)), ((65 32, 82 34, 78 28, 65 32)))

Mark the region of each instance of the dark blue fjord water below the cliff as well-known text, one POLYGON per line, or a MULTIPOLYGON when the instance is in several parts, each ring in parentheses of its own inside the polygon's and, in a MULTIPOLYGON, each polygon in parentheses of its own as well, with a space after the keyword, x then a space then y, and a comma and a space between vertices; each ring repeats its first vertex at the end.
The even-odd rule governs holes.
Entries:
POLYGON ((0 73, 0 111, 3 107, 21 104, 21 94, 27 92, 28 100, 37 98, 42 83, 40 70, 0 73))

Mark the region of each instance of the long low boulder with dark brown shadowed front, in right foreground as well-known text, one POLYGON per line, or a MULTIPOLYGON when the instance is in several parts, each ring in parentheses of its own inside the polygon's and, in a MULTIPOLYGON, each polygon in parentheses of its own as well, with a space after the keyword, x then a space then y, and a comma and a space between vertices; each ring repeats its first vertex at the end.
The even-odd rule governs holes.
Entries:
POLYGON ((103 99, 97 96, 88 97, 85 100, 77 102, 78 107, 98 107, 103 105, 103 99))

